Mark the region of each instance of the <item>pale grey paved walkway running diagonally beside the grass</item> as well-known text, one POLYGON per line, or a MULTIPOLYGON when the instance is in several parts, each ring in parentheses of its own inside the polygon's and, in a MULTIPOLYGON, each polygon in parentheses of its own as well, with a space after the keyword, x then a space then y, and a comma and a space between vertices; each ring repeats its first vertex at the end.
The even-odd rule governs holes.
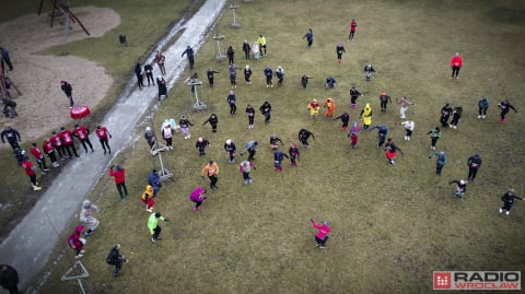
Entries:
MULTIPOLYGON (((196 51, 200 48, 224 4, 225 0, 206 1, 190 20, 182 20, 158 44, 158 48, 161 48, 177 32, 184 30, 178 40, 163 51, 167 60, 167 74, 164 79, 168 89, 175 85, 187 64, 186 58, 180 58, 182 52, 188 45, 196 51)), ((149 60, 152 58, 153 55, 149 60)), ((130 64, 131 67, 132 64, 130 64)), ((160 74, 156 68, 155 71, 154 77, 160 74)), ((114 153, 110 156, 104 156, 98 140, 92 138, 96 149, 95 153, 82 154, 80 158, 68 163, 62 168, 60 176, 42 193, 34 209, 0 245, 0 263, 9 263, 19 271, 20 289, 33 289, 30 283, 42 272, 57 243, 65 243, 63 239, 58 239, 55 230, 62 232, 69 226, 73 215, 79 211, 82 200, 89 196, 100 178, 106 175, 113 158, 122 148, 132 143, 135 128, 140 122, 142 115, 154 103, 158 94, 156 86, 139 91, 133 90, 135 84, 133 75, 101 124, 106 126, 113 134, 109 145, 114 153)), ((0 289, 0 293, 7 292, 0 289)))

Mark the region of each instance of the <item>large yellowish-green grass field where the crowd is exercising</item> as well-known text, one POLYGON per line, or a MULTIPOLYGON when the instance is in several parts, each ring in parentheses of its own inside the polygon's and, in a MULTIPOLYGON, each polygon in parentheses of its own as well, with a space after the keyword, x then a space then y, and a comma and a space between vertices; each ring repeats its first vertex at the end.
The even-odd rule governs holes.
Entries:
MULTIPOLYGON (((525 108, 520 89, 525 72, 523 3, 304 0, 240 7, 240 30, 230 28, 230 11, 218 25, 226 36, 224 45, 234 46, 237 66, 249 63, 254 70, 249 86, 241 72, 237 75, 238 114, 229 115, 228 64, 214 61, 213 43, 208 42, 196 56, 195 71, 202 78, 210 66, 220 72, 215 87, 201 91, 210 109, 190 113, 188 89, 178 83, 151 121, 159 130, 165 118, 188 114, 195 125, 191 139, 178 134, 175 149, 164 155, 176 180, 164 184, 156 198, 154 210, 171 219, 161 223, 162 242, 151 244, 149 213, 139 201, 149 170, 156 167, 143 140, 118 160, 128 168, 129 199, 117 203, 107 177, 93 193, 93 199, 101 198, 102 224, 89 239, 83 262, 94 293, 428 293, 435 270, 525 270, 525 207, 520 202, 510 216, 498 214, 499 197, 509 186, 520 193, 525 189, 520 128, 524 118, 511 113, 508 122, 500 124, 497 107, 508 96, 518 110, 525 108), (349 43, 352 17, 359 26, 355 40, 349 43), (308 27, 314 32, 310 49, 301 39, 308 27), (243 39, 253 44, 259 34, 267 37, 268 56, 243 60, 243 39), (340 39, 347 54, 337 64, 335 46, 340 39), (448 61, 456 51, 465 63, 459 80, 450 80, 448 61), (362 73, 368 61, 377 70, 370 83, 362 73), (285 69, 283 86, 265 86, 267 64, 285 69), (306 91, 300 87, 303 73, 314 78, 306 91), (334 90, 324 89, 328 75, 338 80, 334 90), (364 93, 358 109, 349 108, 352 85, 364 93), (416 103, 408 113, 416 121, 410 142, 402 140, 397 107, 378 111, 382 91, 416 103), (491 108, 487 119, 478 120, 477 99, 482 95, 490 98, 491 108), (386 124, 388 137, 404 150, 396 166, 388 166, 384 151, 375 146, 375 131, 361 131, 358 148, 351 150, 339 122, 310 119, 307 103, 328 96, 338 105, 337 115, 347 110, 360 125, 359 109, 366 102, 372 105, 373 125, 386 124), (246 104, 258 108, 265 101, 273 107, 271 124, 265 126, 257 113, 255 129, 248 130, 246 104), (444 129, 438 143, 438 151, 446 149, 448 155, 439 177, 435 160, 428 158, 427 132, 438 126, 446 102, 462 104, 465 111, 458 129, 444 129), (201 126, 211 113, 220 119, 217 133, 201 126), (316 140, 301 150, 299 167, 285 164, 283 173, 276 173, 269 136, 277 133, 288 150, 302 127, 316 140), (199 136, 211 142, 205 157, 194 149, 199 136), (226 139, 241 149, 248 140, 259 141, 253 185, 242 186, 238 155, 234 164, 228 163, 222 149, 226 139), (483 165, 466 199, 458 201, 448 180, 467 176, 466 161, 475 152, 483 165), (210 158, 221 167, 220 188, 209 191, 203 208, 194 212, 187 198, 196 186, 207 184, 200 169, 210 158), (310 217, 330 222, 327 249, 314 246, 310 217), (122 254, 130 258, 118 279, 104 261, 115 243, 122 244, 122 254)), ((59 279, 73 260, 70 249, 65 252, 42 293, 77 293, 74 282, 59 279)))

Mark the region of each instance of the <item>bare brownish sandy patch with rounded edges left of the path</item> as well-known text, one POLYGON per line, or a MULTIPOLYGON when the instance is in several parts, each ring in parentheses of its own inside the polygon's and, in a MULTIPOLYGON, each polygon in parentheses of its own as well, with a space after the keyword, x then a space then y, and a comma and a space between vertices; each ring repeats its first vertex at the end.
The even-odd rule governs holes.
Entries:
MULTIPOLYGON (((67 42, 100 37, 120 23, 120 16, 110 9, 75 8, 73 13, 81 20, 91 36, 79 24, 71 23, 67 42)), ((103 99, 113 84, 113 78, 96 62, 74 56, 45 56, 38 51, 63 44, 63 21, 55 20, 50 27, 47 13, 28 14, 0 24, 1 46, 10 51, 14 70, 9 78, 22 92, 11 95, 16 101, 19 117, 1 118, 10 122, 27 142, 48 134, 52 129, 71 122, 69 102, 60 90, 60 81, 73 86, 75 105, 94 107, 103 99)), ((4 144, 3 148, 9 148, 4 144)))

